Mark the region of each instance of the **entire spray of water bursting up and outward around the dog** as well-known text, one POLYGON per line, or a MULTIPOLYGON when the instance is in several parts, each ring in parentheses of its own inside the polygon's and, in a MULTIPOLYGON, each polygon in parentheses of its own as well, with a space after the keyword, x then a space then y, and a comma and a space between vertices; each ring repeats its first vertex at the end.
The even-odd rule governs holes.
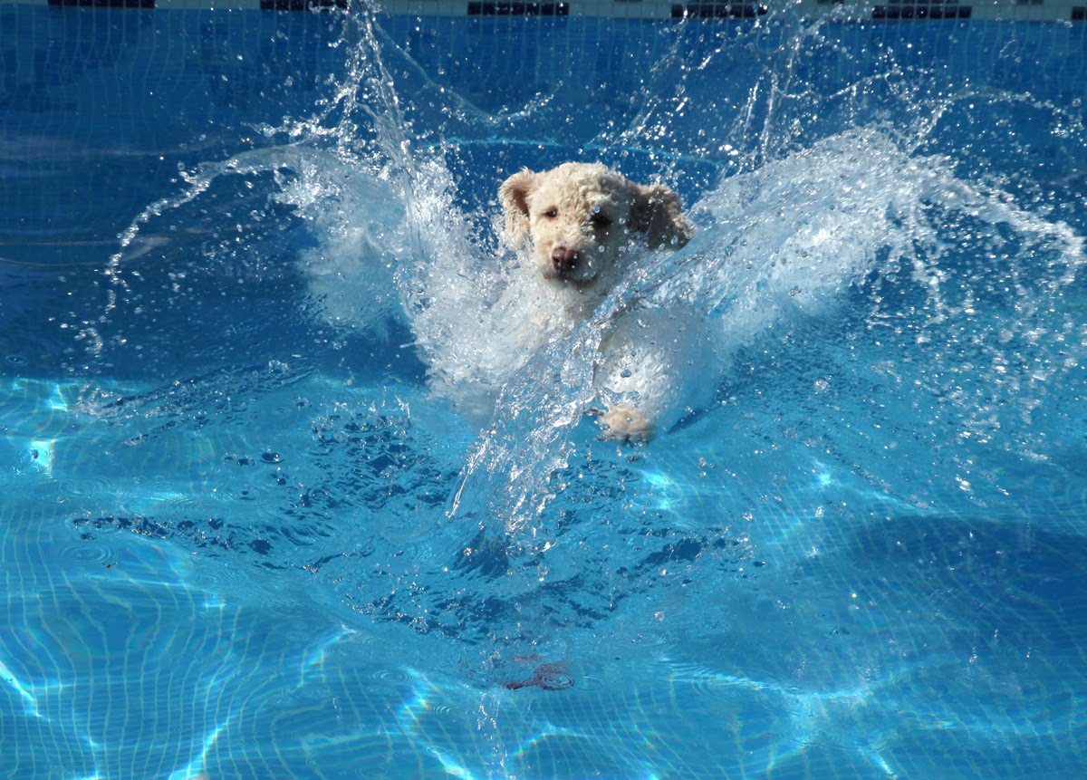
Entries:
MULTIPOLYGON (((604 106, 600 125, 567 125, 570 142, 560 130, 546 148, 565 147, 571 158, 591 150, 620 167, 635 158, 663 160, 663 171, 652 173, 673 177, 685 161, 701 161, 712 176, 680 187, 697 235, 678 252, 640 257, 591 316, 541 340, 527 316, 541 303, 539 280, 496 239, 497 214, 480 205, 487 197, 468 192, 465 176, 454 173, 464 149, 448 134, 437 143, 422 139, 455 129, 465 148, 471 141, 479 149, 496 133, 534 133, 565 109, 538 93, 523 108, 495 113, 450 93, 442 106, 448 125, 421 127, 386 65, 390 58, 411 65, 410 58, 382 42, 365 14, 352 15, 345 29, 350 75, 333 85, 315 116, 262 128, 282 143, 187 172, 183 193, 137 217, 111 263, 103 318, 132 297, 128 261, 143 225, 225 178, 271 175, 268 201, 301 219, 312 239, 295 262, 320 301, 317 317, 366 338, 379 338, 390 323, 403 326, 427 366, 435 403, 448 403, 480 431, 446 516, 434 520, 452 529, 434 542, 438 565, 466 563, 486 576, 516 570, 502 586, 511 601, 539 590, 540 556, 555 569, 574 567, 574 553, 557 545, 562 530, 551 509, 572 489, 574 455, 595 445, 597 427, 586 413, 622 393, 601 369, 617 331, 637 354, 614 355, 613 363, 638 361, 669 383, 660 410, 665 428, 712 415, 719 388, 742 382, 737 365, 751 355, 785 362, 792 350, 841 360, 836 340, 863 337, 882 376, 937 397, 972 441, 1012 431, 1009 451, 1048 456, 1030 420, 1052 405, 1040 400, 1046 388, 1083 353, 1082 325, 1063 299, 1078 279, 1083 241, 1059 218, 1017 204, 1005 181, 965 174, 941 149, 962 90, 932 97, 915 86, 928 81, 889 51, 873 60, 872 72, 829 88, 820 81, 828 77, 801 66, 823 51, 821 28, 786 25, 746 34, 754 54, 748 66, 759 73, 719 100, 707 92, 717 81, 672 76, 712 71, 726 58, 748 61, 735 46, 699 40, 704 59, 691 70, 677 53, 680 38, 670 40, 674 55, 660 58, 635 88, 625 122, 613 122, 604 106), (887 118, 888 103, 909 106, 901 123, 887 118), (726 110, 733 124, 707 130, 722 125, 709 115, 726 110), (662 138, 670 149, 658 149, 662 138), (1023 418, 1016 424, 1009 414, 1023 418), (518 569, 518 559, 534 563, 518 569)), ((832 53, 842 56, 837 48, 832 53)), ((425 75, 422 67, 411 73, 425 75)), ((430 97, 445 93, 440 85, 427 88, 430 97)), ((504 140, 495 146, 508 148, 504 140)), ((483 160, 485 169, 468 178, 493 191, 509 163, 483 160)), ((808 402, 788 378, 782 385, 798 407, 808 402)), ((914 401, 912 408, 903 427, 922 428, 928 406, 914 401)), ((858 469, 896 493, 901 473, 858 469)), ((621 557, 608 565, 617 569, 621 557)), ((398 614, 436 606, 426 596, 410 606, 391 601, 388 612, 398 614)), ((461 618, 485 619, 471 609, 461 618)))

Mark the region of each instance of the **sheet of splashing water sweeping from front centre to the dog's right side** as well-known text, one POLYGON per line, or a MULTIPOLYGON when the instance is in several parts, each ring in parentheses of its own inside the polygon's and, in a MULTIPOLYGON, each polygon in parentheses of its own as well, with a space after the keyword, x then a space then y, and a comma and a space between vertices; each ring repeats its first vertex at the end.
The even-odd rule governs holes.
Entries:
MULTIPOLYGON (((552 475, 567 465, 574 431, 599 393, 592 376, 602 335, 624 307, 667 312, 673 320, 686 320, 691 332, 697 324, 709 324, 704 360, 673 362, 678 367, 672 378, 675 405, 697 411, 715 382, 728 376, 738 351, 780 349, 770 338, 790 328, 822 323, 834 329, 834 320, 848 328, 877 316, 864 310, 871 300, 858 302, 849 294, 864 297, 873 285, 913 289, 926 312, 917 324, 919 340, 967 340, 971 330, 977 331, 971 306, 980 305, 969 301, 991 299, 998 291, 992 267, 958 267, 963 261, 955 225, 962 221, 977 221, 985 235, 1008 231, 1029 248, 1008 272, 1020 279, 1019 302, 1010 303, 1021 309, 1023 301, 1066 288, 1084 262, 1083 239, 1067 225, 1020 209, 999 190, 958 178, 945 158, 908 154, 879 127, 835 136, 726 178, 692 213, 701 230, 688 247, 674 256, 650 259, 590 320, 528 361, 505 385, 495 422, 466 463, 454 512, 463 509, 466 494, 489 496, 485 507, 476 505, 467 514, 493 517, 496 528, 514 537, 526 529, 537 532, 554 498, 552 475), (1032 271, 1029 264, 1039 260, 1044 266, 1032 271), (982 289, 960 300, 975 286, 982 289)), ((1000 325, 1000 339, 1007 343, 1015 338, 1012 331, 1038 327, 1030 317, 1009 318, 1000 325)), ((1058 342, 1076 331, 1067 312, 1044 329, 1049 328, 1058 342)), ((651 351, 658 338, 659 329, 648 330, 641 351, 651 351)), ((478 349, 486 343, 493 342, 478 349)), ((1042 377, 1036 374, 1035 380, 1042 377)))

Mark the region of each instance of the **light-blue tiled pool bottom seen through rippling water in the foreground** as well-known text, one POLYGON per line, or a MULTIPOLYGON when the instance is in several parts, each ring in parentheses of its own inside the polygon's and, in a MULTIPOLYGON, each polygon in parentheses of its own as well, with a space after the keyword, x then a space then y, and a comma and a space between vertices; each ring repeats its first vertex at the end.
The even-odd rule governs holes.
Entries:
MULTIPOLYGON (((328 515, 338 538, 326 526, 321 553, 299 552, 320 524, 263 525, 271 475, 310 479, 314 412, 346 403, 376 425, 385 389, 303 378, 238 398, 235 425, 200 437, 146 414, 96 429, 59 408, 73 390, 18 382, 4 403, 3 750, 21 777, 1058 778, 1084 758, 1082 534, 951 508, 852 528, 845 511, 823 526, 763 512, 765 559, 653 548, 685 584, 662 575, 607 618, 576 616, 565 645, 561 627, 532 627, 547 657, 515 654, 403 625, 364 588, 342 603, 343 578, 375 565, 352 542, 373 532, 352 528, 358 506, 328 515), (285 411, 299 397, 314 404, 285 411), (333 550, 346 566, 324 563, 333 550)), ((674 482, 678 439, 647 456, 637 501, 705 490, 697 464, 674 482), (670 462, 669 488, 653 475, 670 462)), ((785 503, 871 501, 832 482, 785 503)), ((388 551, 426 548, 385 532, 401 539, 388 551)))

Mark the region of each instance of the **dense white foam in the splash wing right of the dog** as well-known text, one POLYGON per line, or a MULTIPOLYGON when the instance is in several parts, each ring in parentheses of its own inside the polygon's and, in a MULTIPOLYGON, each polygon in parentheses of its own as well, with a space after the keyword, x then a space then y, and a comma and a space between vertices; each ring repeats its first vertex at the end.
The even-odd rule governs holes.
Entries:
POLYGON ((828 315, 877 253, 898 257, 912 241, 932 241, 919 212, 942 167, 869 129, 725 179, 696 210, 714 229, 664 294, 699 301, 732 348, 783 317, 828 315))

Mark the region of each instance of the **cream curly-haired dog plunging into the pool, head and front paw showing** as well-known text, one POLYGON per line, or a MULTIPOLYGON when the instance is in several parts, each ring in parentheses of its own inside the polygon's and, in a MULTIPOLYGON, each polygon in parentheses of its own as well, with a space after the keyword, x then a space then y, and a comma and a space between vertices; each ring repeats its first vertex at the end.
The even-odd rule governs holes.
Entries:
MULTIPOLYGON (((542 342, 591 316, 629 271, 633 251, 678 249, 691 235, 675 192, 634 184, 598 163, 521 171, 502 184, 499 200, 507 241, 530 244, 521 257, 526 284, 540 286, 532 324, 542 342)), ((601 416, 609 438, 646 441, 682 416, 677 361, 692 363, 700 345, 692 344, 698 334, 674 319, 659 310, 628 312, 601 342, 595 383, 622 395, 601 416)))

